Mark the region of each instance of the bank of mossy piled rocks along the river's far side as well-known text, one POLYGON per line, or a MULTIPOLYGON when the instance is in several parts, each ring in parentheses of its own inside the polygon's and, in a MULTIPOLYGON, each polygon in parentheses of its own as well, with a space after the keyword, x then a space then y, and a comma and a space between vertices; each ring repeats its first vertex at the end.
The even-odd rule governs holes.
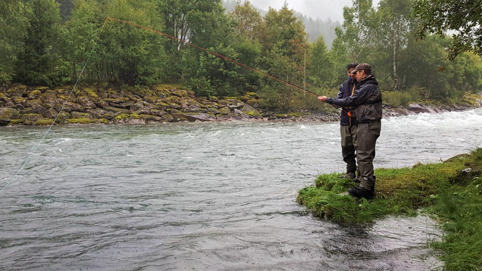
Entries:
MULTIPOLYGON (((316 112, 272 112, 264 109, 266 101, 255 92, 242 97, 202 98, 196 97, 192 91, 167 85, 129 90, 78 86, 68 97, 71 89, 71 86, 49 88, 21 84, 1 88, 0 125, 50 125, 59 112, 56 124, 339 119, 338 110, 330 106, 316 112)), ((452 105, 412 103, 407 107, 392 108, 384 104, 384 115, 437 113, 473 107, 482 107, 482 97, 470 95, 466 102, 452 105)))

